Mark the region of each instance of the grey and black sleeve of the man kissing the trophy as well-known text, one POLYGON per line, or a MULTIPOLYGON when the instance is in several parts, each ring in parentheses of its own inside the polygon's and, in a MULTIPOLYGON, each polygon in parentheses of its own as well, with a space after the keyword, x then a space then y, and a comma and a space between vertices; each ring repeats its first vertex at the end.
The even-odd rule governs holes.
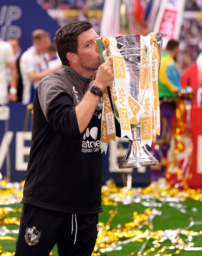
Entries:
POLYGON ((67 87, 68 82, 48 75, 38 85, 39 103, 46 120, 55 131, 70 138, 80 138, 73 95, 67 87))

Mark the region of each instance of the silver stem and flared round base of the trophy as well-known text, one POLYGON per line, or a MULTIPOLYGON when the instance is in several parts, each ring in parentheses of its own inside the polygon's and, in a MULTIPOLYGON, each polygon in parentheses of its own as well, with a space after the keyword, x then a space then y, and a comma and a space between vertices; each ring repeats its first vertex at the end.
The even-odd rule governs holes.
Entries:
POLYGON ((125 157, 119 163, 119 168, 135 168, 158 164, 158 160, 153 157, 145 146, 140 146, 140 125, 132 128, 133 140, 129 139, 129 146, 125 157))

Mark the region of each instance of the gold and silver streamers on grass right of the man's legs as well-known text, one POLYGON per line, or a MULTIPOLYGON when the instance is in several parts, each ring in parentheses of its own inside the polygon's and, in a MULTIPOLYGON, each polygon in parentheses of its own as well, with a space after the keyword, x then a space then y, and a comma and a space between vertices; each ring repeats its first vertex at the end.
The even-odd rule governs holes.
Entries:
MULTIPOLYGON (((187 227, 170 229, 170 230, 157 230, 153 231, 153 219, 162 214, 156 207, 160 208, 164 204, 169 205, 183 214, 187 214, 186 205, 181 204, 187 198, 202 201, 201 189, 184 189, 178 190, 171 188, 168 185, 160 187, 158 184, 149 186, 145 189, 137 188, 128 190, 126 187, 117 188, 114 183, 110 183, 102 188, 103 204, 115 206, 114 210, 110 210, 110 218, 107 223, 99 222, 99 233, 96 246, 94 249, 94 256, 100 253, 110 251, 122 250, 122 245, 130 242, 144 242, 138 251, 131 252, 129 255, 174 255, 180 251, 198 250, 201 251, 202 247, 195 247, 193 237, 202 234, 188 230, 193 225, 201 225, 202 221, 194 222, 193 218, 189 216, 190 223, 187 227), (158 202, 156 202, 158 201, 158 202), (137 212, 133 213, 133 220, 129 223, 117 225, 117 228, 110 229, 110 223, 114 216, 118 214, 118 202, 123 204, 130 204, 139 202, 146 206, 144 214, 137 212), (144 231, 141 229, 148 227, 144 231), (186 239, 182 239, 181 235, 185 235, 186 239), (147 250, 147 243, 152 240, 153 246, 147 250), (163 246, 164 241, 169 241, 169 246, 163 246)), ((201 209, 192 208, 192 212, 200 211, 201 209)))

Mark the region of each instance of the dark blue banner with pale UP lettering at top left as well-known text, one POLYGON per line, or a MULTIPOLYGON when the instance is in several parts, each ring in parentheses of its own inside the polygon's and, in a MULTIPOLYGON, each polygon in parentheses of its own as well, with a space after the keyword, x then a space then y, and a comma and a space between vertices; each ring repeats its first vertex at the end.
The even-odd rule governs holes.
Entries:
POLYGON ((45 29, 53 40, 60 28, 34 0, 1 0, 0 38, 14 37, 20 42, 22 52, 32 45, 31 34, 35 29, 45 29))

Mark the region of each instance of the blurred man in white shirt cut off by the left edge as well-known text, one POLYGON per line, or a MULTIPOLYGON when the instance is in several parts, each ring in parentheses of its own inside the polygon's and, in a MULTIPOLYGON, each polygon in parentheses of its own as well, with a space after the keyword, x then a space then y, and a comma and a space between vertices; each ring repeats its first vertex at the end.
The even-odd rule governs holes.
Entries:
POLYGON ((17 100, 17 66, 12 46, 0 39, 0 105, 17 100), (6 69, 10 68, 11 81, 8 93, 6 69))

